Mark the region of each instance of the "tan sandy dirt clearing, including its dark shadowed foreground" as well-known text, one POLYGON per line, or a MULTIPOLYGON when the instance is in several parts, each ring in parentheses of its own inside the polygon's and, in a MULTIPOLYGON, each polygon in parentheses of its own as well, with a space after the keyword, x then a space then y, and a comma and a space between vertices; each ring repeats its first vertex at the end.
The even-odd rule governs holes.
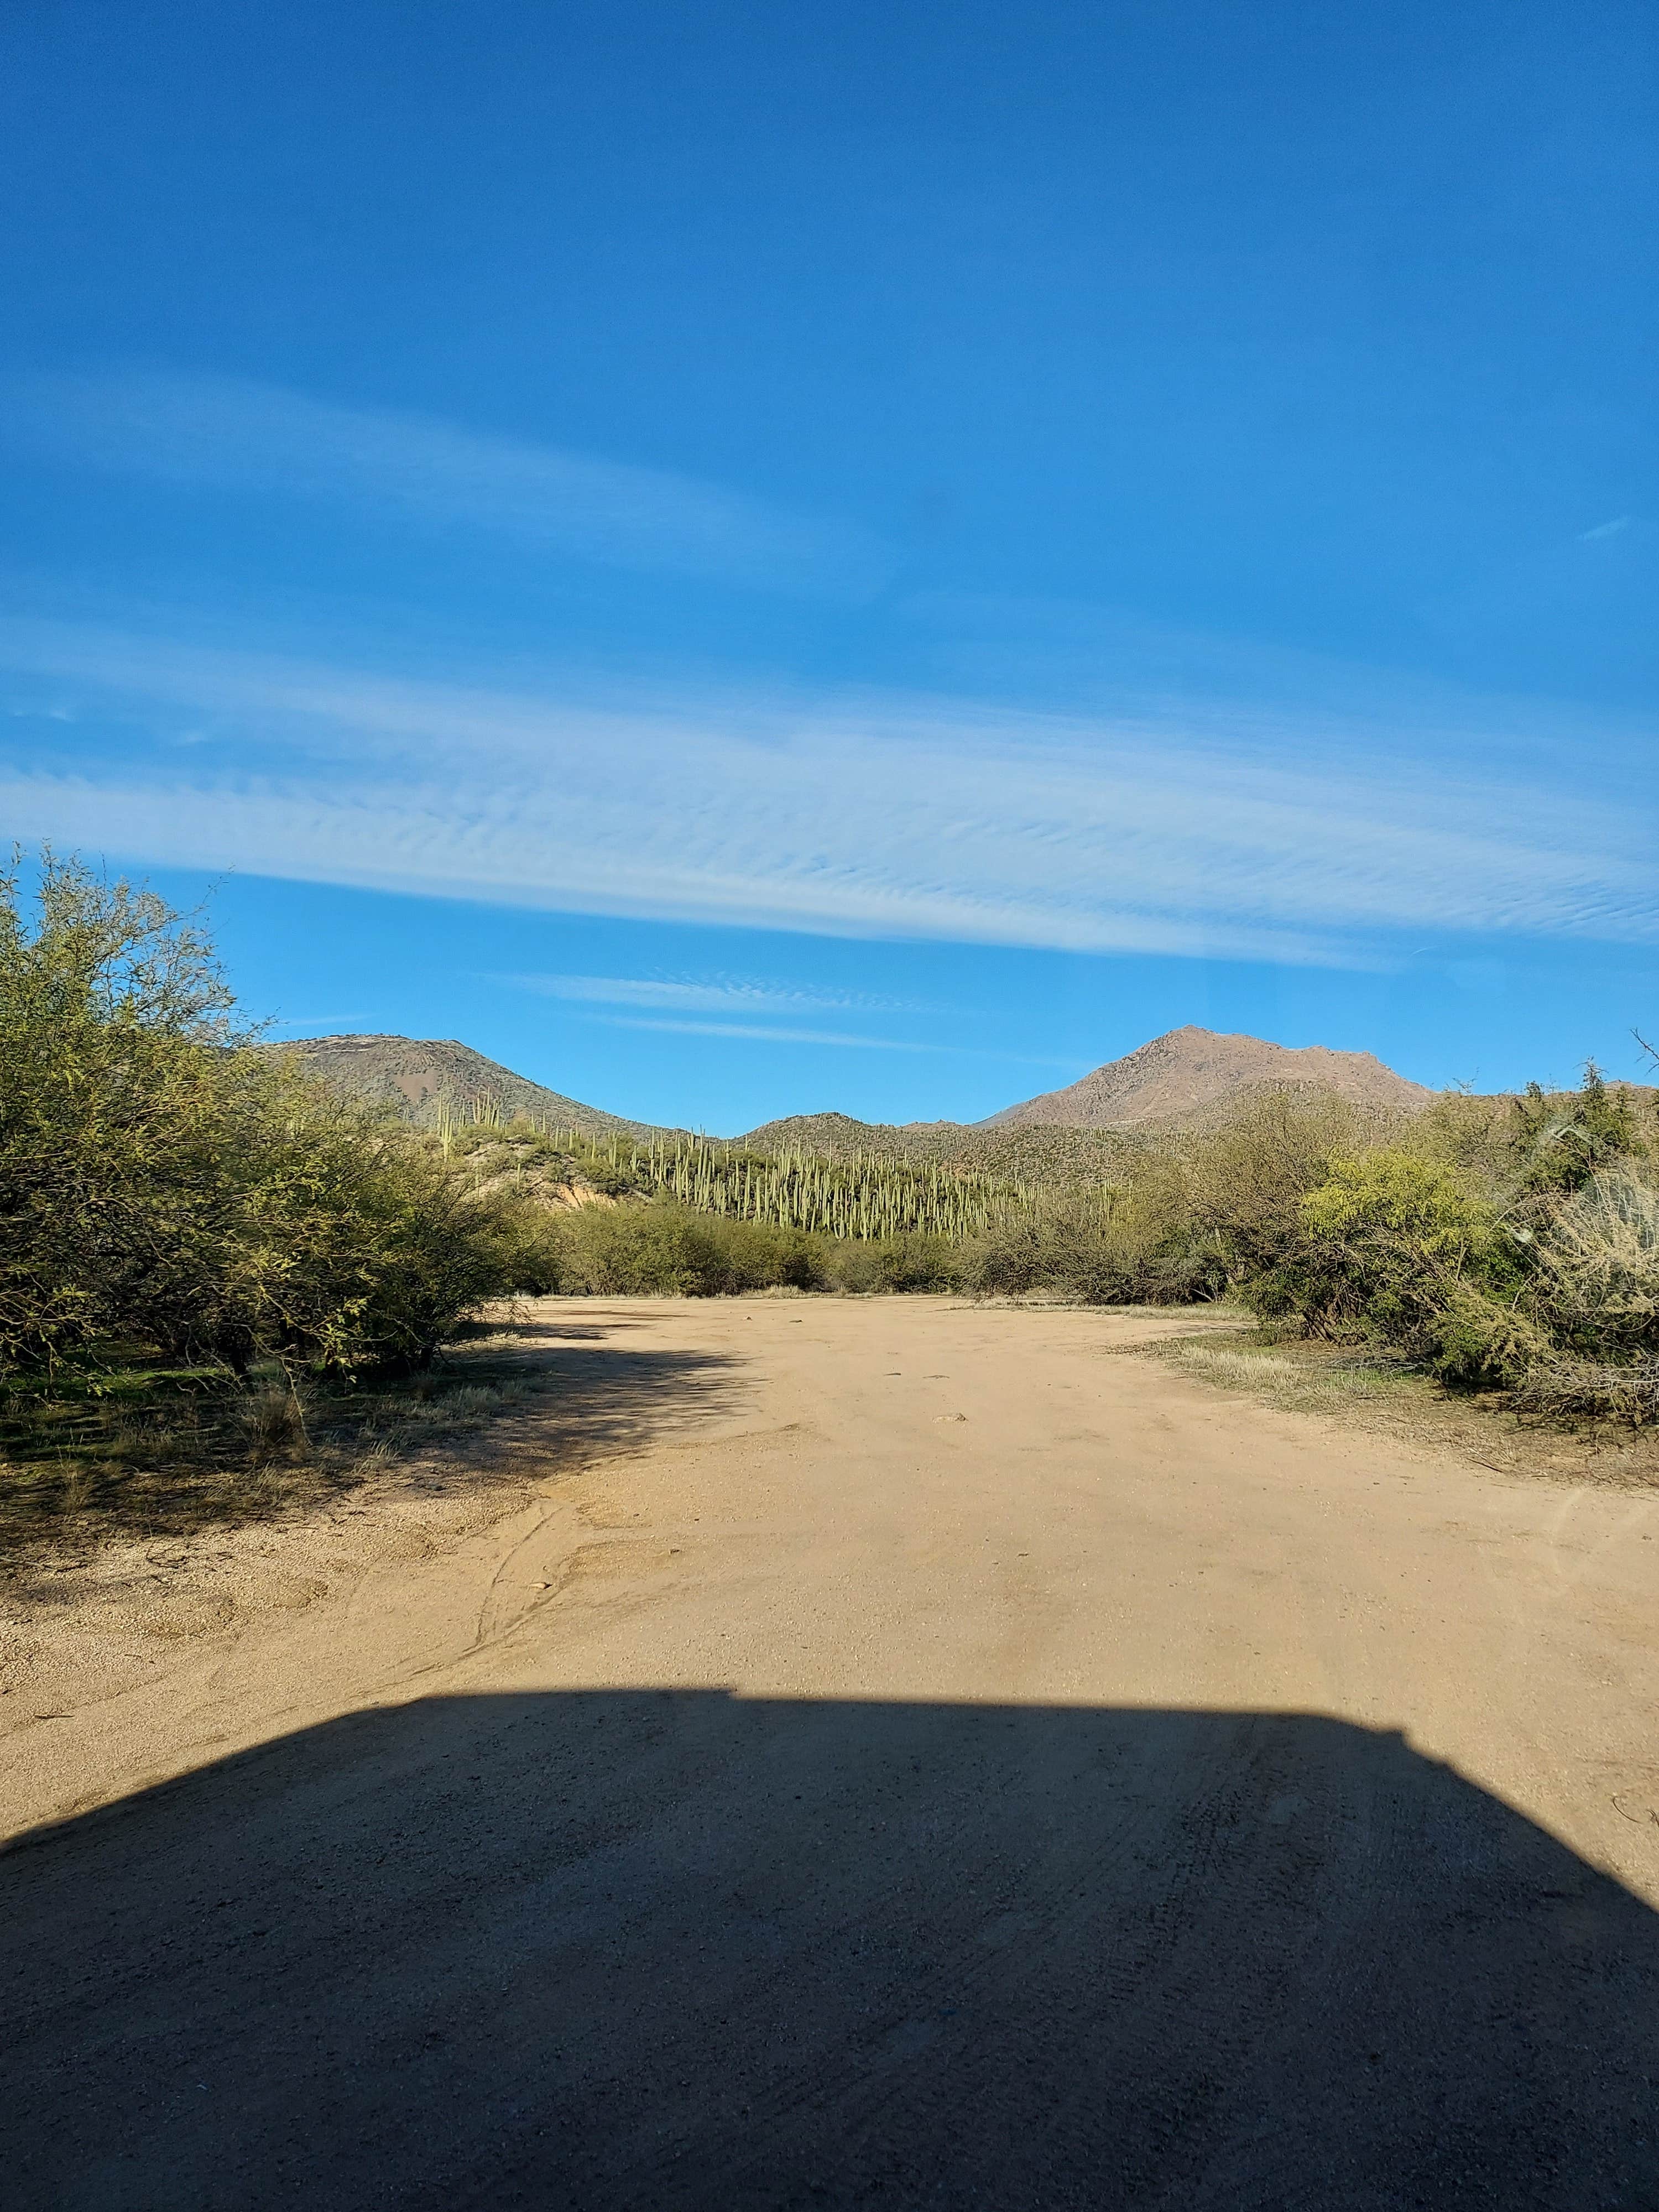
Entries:
POLYGON ((544 1301, 18 1615, 4 2201, 1659 2205, 1659 1498, 1164 1327, 544 1301))

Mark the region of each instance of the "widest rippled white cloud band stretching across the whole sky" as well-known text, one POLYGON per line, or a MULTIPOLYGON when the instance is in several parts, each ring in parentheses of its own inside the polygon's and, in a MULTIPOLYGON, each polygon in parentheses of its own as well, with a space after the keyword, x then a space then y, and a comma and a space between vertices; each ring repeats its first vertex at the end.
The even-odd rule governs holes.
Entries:
POLYGON ((42 622, 0 624, 0 666, 77 717, 35 726, 0 823, 153 865, 1349 967, 1400 931, 1659 936, 1650 807, 1464 781, 1420 745, 1389 772, 1329 717, 1223 745, 1172 717, 896 697, 593 703, 42 622), (208 745, 168 743, 204 723, 208 745), (97 728, 124 759, 88 757, 97 728))

